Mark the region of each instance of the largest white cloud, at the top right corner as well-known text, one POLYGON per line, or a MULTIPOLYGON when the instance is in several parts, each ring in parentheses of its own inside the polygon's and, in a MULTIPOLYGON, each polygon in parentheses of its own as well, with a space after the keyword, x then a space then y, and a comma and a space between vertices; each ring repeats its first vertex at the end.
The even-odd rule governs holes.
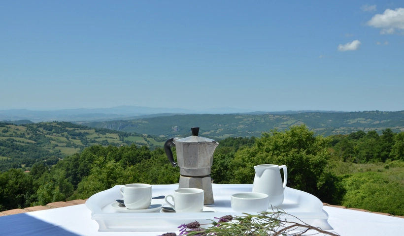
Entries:
POLYGON ((383 14, 374 15, 366 24, 382 28, 380 34, 393 34, 396 29, 404 30, 404 8, 386 9, 383 14))

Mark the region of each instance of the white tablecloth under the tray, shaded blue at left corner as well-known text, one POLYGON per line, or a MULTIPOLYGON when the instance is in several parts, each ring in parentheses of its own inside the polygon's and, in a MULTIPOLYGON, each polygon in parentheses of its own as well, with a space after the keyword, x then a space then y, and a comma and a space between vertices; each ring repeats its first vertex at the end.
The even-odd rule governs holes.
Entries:
MULTIPOLYGON (((404 236, 403 218, 337 207, 323 209, 329 214, 332 231, 341 236, 404 236)), ((167 233, 99 232, 98 229, 85 204, 0 217, 0 235, 158 236, 167 233)))

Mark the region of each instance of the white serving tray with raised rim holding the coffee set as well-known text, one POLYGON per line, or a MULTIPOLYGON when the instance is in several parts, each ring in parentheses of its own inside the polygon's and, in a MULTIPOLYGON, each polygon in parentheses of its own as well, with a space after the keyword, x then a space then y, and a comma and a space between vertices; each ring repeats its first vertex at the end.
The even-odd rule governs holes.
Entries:
MULTIPOLYGON (((99 231, 178 231, 177 227, 198 221, 201 224, 211 223, 209 219, 224 215, 243 215, 231 208, 230 196, 234 193, 251 192, 252 184, 213 184, 213 196, 215 205, 209 206, 217 212, 202 213, 125 213, 118 212, 111 204, 116 199, 122 199, 119 188, 123 185, 116 185, 113 188, 99 192, 91 196, 86 207, 91 211, 91 219, 96 220, 100 226, 99 231)), ((153 185, 153 196, 173 194, 178 184, 153 185)), ((296 216, 304 223, 320 227, 323 230, 333 229, 327 222, 328 214, 323 210, 323 204, 315 196, 293 188, 285 188, 285 200, 279 209, 288 214, 296 216)), ((165 204, 164 199, 152 200, 152 204, 165 204)), ((271 209, 269 209, 271 211, 271 209)), ((253 213, 253 212, 247 212, 253 213)), ((290 216, 285 217, 289 221, 296 221, 290 216)))

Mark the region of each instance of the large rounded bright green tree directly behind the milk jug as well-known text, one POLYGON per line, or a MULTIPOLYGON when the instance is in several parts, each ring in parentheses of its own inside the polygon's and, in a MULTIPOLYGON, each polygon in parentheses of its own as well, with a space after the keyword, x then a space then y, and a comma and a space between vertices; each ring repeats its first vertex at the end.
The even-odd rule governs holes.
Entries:
POLYGON ((288 186, 300 189, 323 201, 335 203, 343 190, 329 167, 329 139, 314 136, 305 125, 290 130, 272 130, 257 138, 252 148, 239 150, 231 163, 233 183, 252 183, 254 166, 259 164, 286 165, 288 186), (292 178, 293 177, 293 178, 292 178), (330 190, 333 190, 331 192, 330 190))

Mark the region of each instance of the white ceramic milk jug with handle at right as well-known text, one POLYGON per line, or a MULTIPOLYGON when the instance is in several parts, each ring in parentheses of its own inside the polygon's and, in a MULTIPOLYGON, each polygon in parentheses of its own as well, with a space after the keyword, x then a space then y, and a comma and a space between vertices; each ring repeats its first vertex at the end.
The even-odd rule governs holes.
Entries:
POLYGON ((258 165, 254 166, 255 177, 253 183, 254 193, 265 193, 269 196, 269 207, 278 207, 283 202, 283 190, 288 181, 288 170, 285 165, 258 165), (280 176, 280 169, 283 169, 283 183, 280 176))

